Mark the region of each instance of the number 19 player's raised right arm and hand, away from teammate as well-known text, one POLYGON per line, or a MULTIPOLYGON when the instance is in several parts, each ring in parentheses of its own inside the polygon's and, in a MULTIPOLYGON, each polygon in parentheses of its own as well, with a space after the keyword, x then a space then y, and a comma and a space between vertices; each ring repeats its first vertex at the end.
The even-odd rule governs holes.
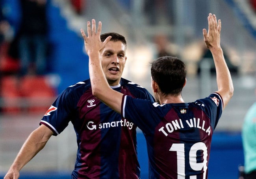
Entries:
POLYGON ((232 98, 234 93, 233 82, 231 79, 228 66, 226 65, 223 51, 220 45, 220 35, 221 35, 221 20, 216 19, 215 15, 208 16, 208 33, 206 29, 203 29, 204 42, 211 51, 213 56, 215 68, 216 68, 216 78, 219 93, 223 99, 223 109, 228 104, 228 101, 232 98))

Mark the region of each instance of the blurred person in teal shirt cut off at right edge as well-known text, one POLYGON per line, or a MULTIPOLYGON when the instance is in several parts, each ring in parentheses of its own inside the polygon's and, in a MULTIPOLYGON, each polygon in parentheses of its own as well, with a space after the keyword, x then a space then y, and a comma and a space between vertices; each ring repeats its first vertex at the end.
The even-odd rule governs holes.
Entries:
MULTIPOLYGON (((256 93, 256 90, 255 90, 256 93)), ((248 109, 242 127, 245 179, 256 179, 256 102, 248 109)))

